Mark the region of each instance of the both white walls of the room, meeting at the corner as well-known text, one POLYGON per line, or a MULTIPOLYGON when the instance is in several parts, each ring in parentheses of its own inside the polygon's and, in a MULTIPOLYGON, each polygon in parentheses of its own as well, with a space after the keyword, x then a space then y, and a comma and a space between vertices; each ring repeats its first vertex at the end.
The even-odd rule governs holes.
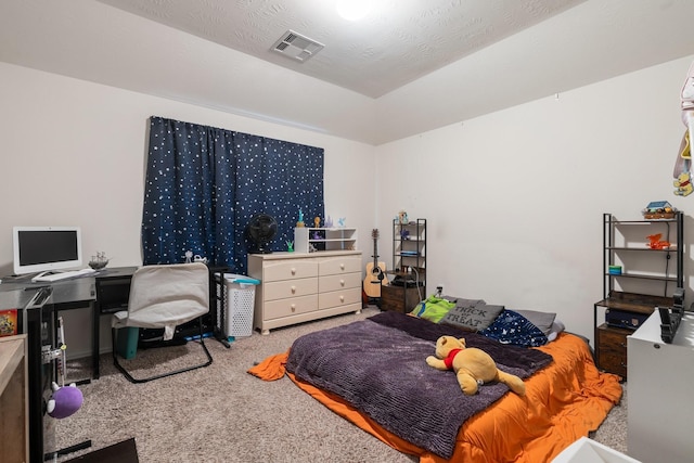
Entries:
MULTIPOLYGON (((668 200, 689 216, 692 300, 693 200, 672 194, 691 61, 378 147, 0 64, 0 270, 11 272, 15 224, 79 224, 88 255, 140 263, 145 129, 159 115, 324 147, 326 211, 361 230, 365 261, 372 228, 389 261, 391 218, 406 209, 428 220, 429 290, 440 283, 451 295, 553 310, 592 338, 605 211, 639 218, 648 202, 668 200)), ((72 326, 86 331, 88 319, 72 326)), ((72 350, 87 351, 76 337, 72 350)))

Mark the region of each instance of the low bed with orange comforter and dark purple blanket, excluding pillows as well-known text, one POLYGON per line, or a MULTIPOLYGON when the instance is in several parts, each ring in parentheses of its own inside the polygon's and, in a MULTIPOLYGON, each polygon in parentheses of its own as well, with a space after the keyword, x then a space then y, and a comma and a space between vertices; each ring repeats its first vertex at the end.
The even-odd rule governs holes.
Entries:
POLYGON ((286 374, 422 463, 549 461, 596 429, 622 393, 618 376, 596 370, 579 336, 562 332, 528 348, 397 312, 309 333, 249 373, 267 381, 286 374), (464 396, 453 373, 426 364, 441 335, 483 348, 500 370, 524 380, 526 395, 496 383, 464 396))

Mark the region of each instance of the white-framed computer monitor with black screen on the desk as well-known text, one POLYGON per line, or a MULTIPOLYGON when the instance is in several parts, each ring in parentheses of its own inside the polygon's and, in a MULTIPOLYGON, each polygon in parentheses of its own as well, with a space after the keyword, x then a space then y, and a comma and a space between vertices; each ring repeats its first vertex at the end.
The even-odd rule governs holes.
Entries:
POLYGON ((14 273, 65 270, 82 265, 79 227, 14 227, 14 273))

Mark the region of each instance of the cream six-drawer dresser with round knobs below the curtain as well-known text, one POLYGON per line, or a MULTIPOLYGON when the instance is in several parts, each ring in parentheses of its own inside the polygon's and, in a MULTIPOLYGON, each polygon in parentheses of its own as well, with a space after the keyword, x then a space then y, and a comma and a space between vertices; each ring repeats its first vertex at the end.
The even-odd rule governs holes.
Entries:
POLYGON ((256 288, 253 325, 270 330, 361 311, 360 250, 249 254, 256 288))

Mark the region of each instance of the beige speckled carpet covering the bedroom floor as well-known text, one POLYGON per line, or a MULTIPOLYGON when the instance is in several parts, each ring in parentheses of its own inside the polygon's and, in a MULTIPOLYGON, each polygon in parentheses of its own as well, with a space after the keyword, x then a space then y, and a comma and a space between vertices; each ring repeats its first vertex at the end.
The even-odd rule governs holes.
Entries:
MULTIPOLYGON (((268 383, 246 373, 254 362, 285 351, 303 334, 377 312, 368 308, 361 314, 279 329, 268 336, 256 333, 232 343, 230 349, 208 339, 215 359, 210 366, 145 384, 129 383, 115 370, 111 356, 102 356, 101 378, 80 386, 82 408, 56 421, 56 448, 91 439, 92 449, 99 449, 134 437, 142 463, 415 461, 329 411, 288 378, 268 383)), ((181 364, 191 360, 191 356, 181 357, 189 349, 201 353, 200 346, 189 343, 183 348, 157 349, 156 355, 168 350, 167 361, 181 364)), ((139 351, 131 361, 136 376, 145 373, 138 364, 153 352, 139 351)), ((68 366, 73 381, 85 368, 79 361, 68 366)), ((591 437, 626 451, 626 401, 591 437)))

